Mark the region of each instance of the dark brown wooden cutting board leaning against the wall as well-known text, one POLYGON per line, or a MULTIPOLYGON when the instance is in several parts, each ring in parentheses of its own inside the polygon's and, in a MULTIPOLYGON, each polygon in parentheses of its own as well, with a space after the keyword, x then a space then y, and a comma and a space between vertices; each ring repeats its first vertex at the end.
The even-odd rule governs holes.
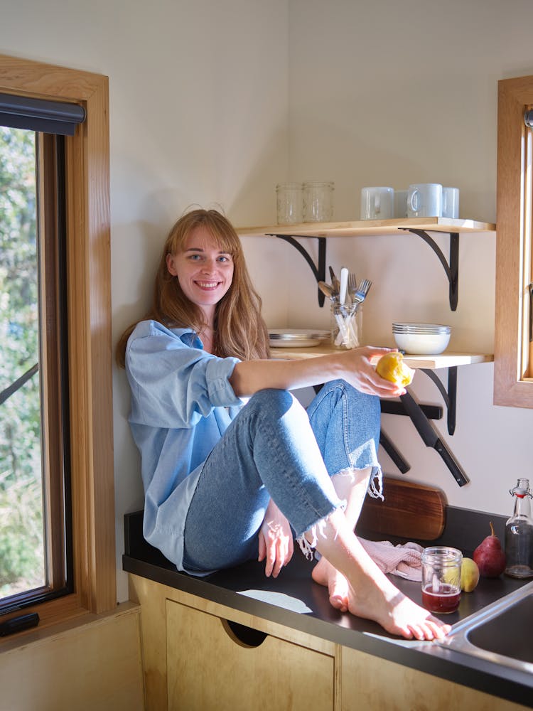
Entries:
POLYGON ((414 540, 439 538, 446 524, 446 494, 434 486, 383 477, 385 501, 367 495, 356 532, 414 540))

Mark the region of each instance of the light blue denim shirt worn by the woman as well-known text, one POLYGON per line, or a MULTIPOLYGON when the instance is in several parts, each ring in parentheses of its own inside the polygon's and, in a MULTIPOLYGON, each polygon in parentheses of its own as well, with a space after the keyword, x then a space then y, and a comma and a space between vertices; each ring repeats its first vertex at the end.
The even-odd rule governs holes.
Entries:
POLYGON ((183 528, 208 454, 243 405, 238 358, 203 350, 190 328, 141 321, 126 346, 129 424, 141 453, 144 538, 183 570, 183 528))

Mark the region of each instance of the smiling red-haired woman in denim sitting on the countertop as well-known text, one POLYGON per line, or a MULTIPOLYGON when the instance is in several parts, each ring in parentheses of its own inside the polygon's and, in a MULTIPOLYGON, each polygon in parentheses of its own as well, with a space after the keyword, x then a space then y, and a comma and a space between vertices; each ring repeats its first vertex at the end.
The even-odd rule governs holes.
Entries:
POLYGON ((269 360, 260 307, 232 225, 216 210, 183 215, 152 309, 117 348, 146 540, 189 574, 258 557, 276 577, 294 530, 303 552, 321 554, 312 576, 335 608, 405 638, 444 636, 449 626, 399 592, 354 534, 367 489, 381 496, 379 397, 404 392, 370 364, 389 348, 269 360), (322 383, 307 411, 289 392, 322 383))

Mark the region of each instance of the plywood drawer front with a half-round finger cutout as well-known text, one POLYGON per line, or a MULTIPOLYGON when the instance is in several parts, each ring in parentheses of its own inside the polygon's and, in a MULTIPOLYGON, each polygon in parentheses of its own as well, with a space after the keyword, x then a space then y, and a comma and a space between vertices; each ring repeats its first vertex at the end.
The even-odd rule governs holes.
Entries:
POLYGON ((267 635, 249 647, 220 617, 166 601, 168 710, 333 710, 334 658, 267 635))

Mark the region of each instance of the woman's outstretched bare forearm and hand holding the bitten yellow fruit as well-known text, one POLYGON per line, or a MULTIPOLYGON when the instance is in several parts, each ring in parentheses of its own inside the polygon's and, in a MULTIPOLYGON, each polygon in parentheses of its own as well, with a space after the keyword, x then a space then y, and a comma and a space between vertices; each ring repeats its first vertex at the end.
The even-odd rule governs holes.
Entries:
POLYGON ((361 392, 396 397, 405 392, 404 388, 380 378, 370 363, 373 356, 392 350, 364 346, 303 360, 243 360, 235 365, 230 384, 237 397, 248 397, 266 387, 293 390, 342 378, 361 392))

